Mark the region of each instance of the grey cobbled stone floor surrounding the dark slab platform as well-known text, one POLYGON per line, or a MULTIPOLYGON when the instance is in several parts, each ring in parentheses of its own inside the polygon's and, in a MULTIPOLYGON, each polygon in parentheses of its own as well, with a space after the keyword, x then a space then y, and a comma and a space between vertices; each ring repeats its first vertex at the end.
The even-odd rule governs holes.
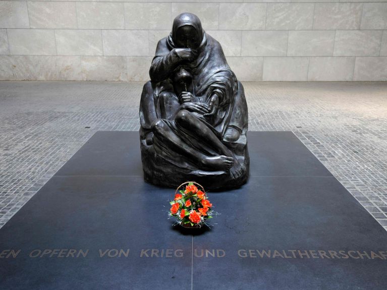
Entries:
MULTIPOLYGON (((292 131, 387 230, 387 83, 244 83, 250 131, 292 131)), ((98 130, 139 129, 142 83, 0 82, 0 227, 98 130)))

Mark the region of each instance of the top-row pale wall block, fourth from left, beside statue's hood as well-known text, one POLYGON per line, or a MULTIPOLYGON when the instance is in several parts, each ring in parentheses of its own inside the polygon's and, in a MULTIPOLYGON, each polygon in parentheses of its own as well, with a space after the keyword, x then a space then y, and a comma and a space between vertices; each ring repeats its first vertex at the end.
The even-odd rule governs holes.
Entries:
POLYGON ((171 3, 125 3, 126 29, 171 29, 171 3))

